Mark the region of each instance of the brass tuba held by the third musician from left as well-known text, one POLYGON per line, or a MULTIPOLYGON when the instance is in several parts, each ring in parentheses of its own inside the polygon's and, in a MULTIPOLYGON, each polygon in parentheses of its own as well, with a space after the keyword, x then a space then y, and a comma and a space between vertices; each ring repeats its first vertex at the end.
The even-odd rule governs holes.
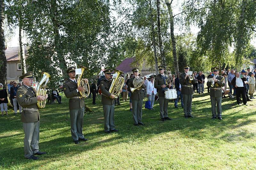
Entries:
POLYGON ((114 95, 115 98, 117 99, 120 94, 120 90, 124 86, 124 77, 120 77, 120 75, 123 74, 122 71, 117 70, 117 69, 114 69, 114 70, 115 70, 115 74, 117 74, 117 75, 114 76, 114 74, 113 74, 112 83, 109 88, 109 93, 114 95))

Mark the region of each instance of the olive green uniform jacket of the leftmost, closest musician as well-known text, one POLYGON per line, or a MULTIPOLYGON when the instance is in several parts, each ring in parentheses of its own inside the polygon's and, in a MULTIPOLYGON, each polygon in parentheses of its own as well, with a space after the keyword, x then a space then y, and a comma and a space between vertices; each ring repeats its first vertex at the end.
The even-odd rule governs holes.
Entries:
MULTIPOLYGON (((33 89, 33 88, 32 88, 33 89)), ((21 122, 31 123, 40 120, 39 111, 37 107, 36 92, 28 86, 22 85, 18 88, 16 96, 17 101, 23 109, 34 109, 37 111, 22 110, 21 122), (33 93, 34 92, 34 93, 33 93)))

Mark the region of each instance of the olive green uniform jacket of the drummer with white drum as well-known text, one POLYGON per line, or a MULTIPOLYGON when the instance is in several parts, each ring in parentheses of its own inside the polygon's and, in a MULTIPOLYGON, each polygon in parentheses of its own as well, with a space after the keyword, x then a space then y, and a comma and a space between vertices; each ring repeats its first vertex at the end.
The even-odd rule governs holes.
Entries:
MULTIPOLYGON (((170 82, 172 81, 172 77, 170 79, 169 75, 165 74, 165 85, 167 86, 166 89, 169 89, 168 84, 170 84, 170 82)), ((157 74, 156 78, 155 78, 155 83, 154 86, 156 89, 158 89, 158 96, 159 97, 164 97, 164 89, 162 90, 162 85, 164 85, 164 77, 161 74, 157 74)))

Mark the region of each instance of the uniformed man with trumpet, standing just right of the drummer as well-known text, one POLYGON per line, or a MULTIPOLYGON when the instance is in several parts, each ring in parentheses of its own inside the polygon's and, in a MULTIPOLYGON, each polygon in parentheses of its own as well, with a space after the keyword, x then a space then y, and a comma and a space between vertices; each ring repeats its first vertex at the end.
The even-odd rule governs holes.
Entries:
MULTIPOLYGON (((189 80, 189 65, 184 66, 184 73, 180 74, 180 84, 182 85, 181 87, 181 94, 183 96, 183 111, 184 111, 184 117, 192 117, 191 112, 192 112, 192 98, 194 94, 193 90, 193 83, 196 83, 195 77, 193 80, 189 80)), ((192 75, 191 75, 192 76, 192 75)))

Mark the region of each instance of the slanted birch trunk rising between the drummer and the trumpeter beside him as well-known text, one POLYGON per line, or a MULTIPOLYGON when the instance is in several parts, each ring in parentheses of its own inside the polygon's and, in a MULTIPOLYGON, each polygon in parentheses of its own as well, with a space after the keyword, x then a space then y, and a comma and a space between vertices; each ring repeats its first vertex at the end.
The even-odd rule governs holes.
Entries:
POLYGON ((173 14, 172 14, 172 7, 169 0, 165 0, 165 4, 167 5, 167 9, 170 15, 170 29, 171 29, 171 39, 172 39, 172 55, 173 55, 173 65, 175 74, 178 75, 179 71, 179 64, 177 59, 177 53, 176 53, 176 41, 174 37, 174 23, 173 23, 173 14))

